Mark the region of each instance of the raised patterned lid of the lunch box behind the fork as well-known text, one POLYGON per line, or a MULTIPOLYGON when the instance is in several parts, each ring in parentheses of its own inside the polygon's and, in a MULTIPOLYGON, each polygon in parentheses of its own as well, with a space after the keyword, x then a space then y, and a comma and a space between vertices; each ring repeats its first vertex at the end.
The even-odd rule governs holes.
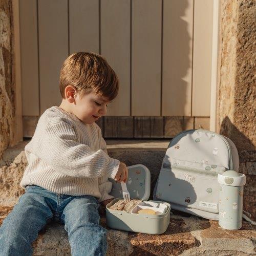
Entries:
MULTIPOLYGON (((128 179, 126 181, 127 190, 131 199, 141 199, 147 201, 150 197, 150 170, 143 164, 127 166, 128 179)), ((119 182, 109 179, 112 182, 110 195, 115 198, 122 198, 122 187, 119 182)))

